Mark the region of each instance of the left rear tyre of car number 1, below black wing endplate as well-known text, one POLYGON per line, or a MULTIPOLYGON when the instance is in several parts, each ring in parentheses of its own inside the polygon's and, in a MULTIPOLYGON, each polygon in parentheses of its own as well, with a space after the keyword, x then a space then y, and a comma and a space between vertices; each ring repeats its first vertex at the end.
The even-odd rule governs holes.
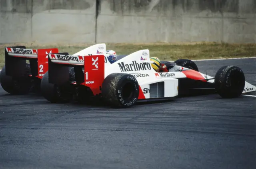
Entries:
POLYGON ((41 81, 41 92, 43 97, 51 103, 68 103, 73 95, 64 86, 49 83, 48 71, 44 74, 41 81))

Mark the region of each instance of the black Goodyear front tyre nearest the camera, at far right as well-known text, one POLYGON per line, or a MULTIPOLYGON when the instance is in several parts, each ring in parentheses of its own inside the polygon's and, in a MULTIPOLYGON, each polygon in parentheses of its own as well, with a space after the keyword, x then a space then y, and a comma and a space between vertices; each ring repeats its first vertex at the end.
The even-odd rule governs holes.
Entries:
POLYGON ((244 72, 236 66, 223 66, 216 73, 214 84, 222 98, 239 97, 244 90, 244 72))

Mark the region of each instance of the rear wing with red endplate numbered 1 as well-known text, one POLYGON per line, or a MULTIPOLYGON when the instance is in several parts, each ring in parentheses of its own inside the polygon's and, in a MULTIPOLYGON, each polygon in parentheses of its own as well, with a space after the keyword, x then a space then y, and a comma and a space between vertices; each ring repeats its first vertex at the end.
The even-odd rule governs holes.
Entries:
POLYGON ((70 81, 69 67, 74 67, 76 85, 90 87, 94 95, 99 94, 105 78, 105 56, 74 56, 68 53, 48 54, 49 83, 64 85, 70 81), (82 70, 84 68, 84 71, 82 70))

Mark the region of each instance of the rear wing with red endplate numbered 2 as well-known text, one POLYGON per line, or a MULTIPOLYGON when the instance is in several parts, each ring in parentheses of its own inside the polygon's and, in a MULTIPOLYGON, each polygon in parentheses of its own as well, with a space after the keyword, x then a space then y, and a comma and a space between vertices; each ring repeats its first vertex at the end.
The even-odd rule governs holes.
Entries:
POLYGON ((26 60, 29 60, 32 77, 42 79, 48 71, 48 54, 58 53, 58 48, 26 49, 26 46, 5 47, 6 75, 23 76, 26 71, 26 60))

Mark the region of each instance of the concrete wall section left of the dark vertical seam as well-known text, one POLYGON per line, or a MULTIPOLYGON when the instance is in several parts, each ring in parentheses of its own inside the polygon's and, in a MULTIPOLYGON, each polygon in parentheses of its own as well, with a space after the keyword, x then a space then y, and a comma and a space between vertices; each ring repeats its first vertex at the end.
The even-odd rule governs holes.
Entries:
POLYGON ((95 42, 95 0, 0 2, 0 43, 95 42))

